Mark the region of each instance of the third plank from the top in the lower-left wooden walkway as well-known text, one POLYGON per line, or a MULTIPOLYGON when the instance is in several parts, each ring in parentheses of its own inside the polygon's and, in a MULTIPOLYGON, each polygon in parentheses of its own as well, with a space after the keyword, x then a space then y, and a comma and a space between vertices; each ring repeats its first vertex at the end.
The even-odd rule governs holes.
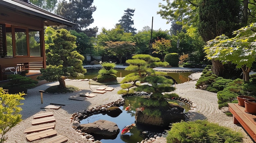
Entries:
POLYGON ((39 132, 47 129, 54 129, 55 128, 55 122, 53 123, 44 123, 41 125, 33 125, 32 127, 27 128, 24 133, 31 133, 31 132, 39 132))

